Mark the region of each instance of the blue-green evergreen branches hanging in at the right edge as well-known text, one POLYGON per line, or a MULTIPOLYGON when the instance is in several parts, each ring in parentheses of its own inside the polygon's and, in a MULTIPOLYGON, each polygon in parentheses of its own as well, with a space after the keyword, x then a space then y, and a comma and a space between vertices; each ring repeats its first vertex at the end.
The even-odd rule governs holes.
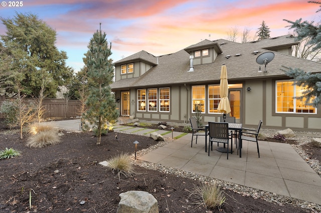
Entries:
MULTIPOLYGON (((321 2, 317 1, 308 2, 321 4, 321 2)), ((317 12, 318 11, 320 11, 320 9, 317 10, 317 12)), ((320 24, 314 25, 313 21, 301 21, 302 18, 296 21, 290 21, 287 19, 284 20, 292 24, 290 25, 290 28, 293 28, 297 33, 297 40, 310 38, 308 44, 315 44, 312 50, 321 48, 320 24)), ((303 93, 303 96, 306 97, 306 104, 309 104, 308 101, 311 98, 314 98, 311 104, 313 104, 315 107, 321 103, 321 73, 311 73, 308 71, 305 72, 299 68, 291 67, 285 67, 283 70, 288 76, 295 79, 296 85, 307 87, 306 91, 303 93)))

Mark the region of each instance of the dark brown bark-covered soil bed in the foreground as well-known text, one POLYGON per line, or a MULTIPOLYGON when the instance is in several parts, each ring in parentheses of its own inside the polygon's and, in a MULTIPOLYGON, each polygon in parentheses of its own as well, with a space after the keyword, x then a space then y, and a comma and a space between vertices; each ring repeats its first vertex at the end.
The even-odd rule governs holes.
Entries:
MULTIPOLYGON (((2 121, 0 150, 12 147, 22 154, 0 160, 0 212, 116 212, 119 194, 129 190, 151 193, 159 212, 310 212, 230 190, 224 190, 226 202, 220 210, 207 209, 189 198, 188 190, 200 185, 196 180, 139 166, 134 166, 134 176, 119 180, 98 164, 120 153, 133 153, 135 140, 139 141, 138 150, 157 143, 146 136, 109 132, 96 145, 92 133, 64 131, 60 144, 30 148, 25 145, 27 133, 20 139, 18 131, 5 129, 2 121)), ((311 153, 315 150, 320 153, 319 149, 309 149, 311 153)), ((316 156, 320 157, 319 153, 316 156)))

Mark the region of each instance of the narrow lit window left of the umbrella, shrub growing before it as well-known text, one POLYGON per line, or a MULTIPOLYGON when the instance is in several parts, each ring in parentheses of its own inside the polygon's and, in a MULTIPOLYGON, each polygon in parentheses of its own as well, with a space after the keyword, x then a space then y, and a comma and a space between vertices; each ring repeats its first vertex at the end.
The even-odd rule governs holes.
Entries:
POLYGON ((192 112, 205 112, 205 85, 192 86, 192 112))

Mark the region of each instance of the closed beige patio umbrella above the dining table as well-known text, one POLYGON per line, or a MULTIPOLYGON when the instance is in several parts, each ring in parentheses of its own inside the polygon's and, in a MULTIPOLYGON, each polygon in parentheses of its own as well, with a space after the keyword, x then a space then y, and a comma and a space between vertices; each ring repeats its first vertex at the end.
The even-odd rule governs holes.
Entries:
POLYGON ((221 101, 217 107, 219 112, 223 112, 224 122, 226 118, 226 114, 231 112, 230 101, 228 98, 229 88, 228 88, 228 81, 227 81, 227 70, 226 65, 223 64, 221 67, 221 77, 220 77, 220 96, 221 101))

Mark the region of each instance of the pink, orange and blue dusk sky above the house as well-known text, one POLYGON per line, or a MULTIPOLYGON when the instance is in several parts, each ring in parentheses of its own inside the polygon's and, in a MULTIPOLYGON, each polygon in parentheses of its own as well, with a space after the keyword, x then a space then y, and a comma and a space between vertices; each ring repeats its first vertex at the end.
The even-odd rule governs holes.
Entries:
MULTIPOLYGON (((16 1, 15 1, 16 2, 16 1)), ((67 65, 78 71, 93 33, 106 32, 110 58, 117 61, 140 50, 155 56, 179 51, 204 39, 226 39, 237 27, 251 39, 264 20, 270 36, 290 32, 283 19, 320 21, 319 4, 307 0, 23 0, 9 7, 2 0, 0 16, 33 13, 57 31, 56 46, 67 52, 67 65), (6 6, 4 6, 6 5, 6 6), (210 36, 209 36, 210 35, 210 36)), ((6 28, 0 23, 0 34, 6 28)))

